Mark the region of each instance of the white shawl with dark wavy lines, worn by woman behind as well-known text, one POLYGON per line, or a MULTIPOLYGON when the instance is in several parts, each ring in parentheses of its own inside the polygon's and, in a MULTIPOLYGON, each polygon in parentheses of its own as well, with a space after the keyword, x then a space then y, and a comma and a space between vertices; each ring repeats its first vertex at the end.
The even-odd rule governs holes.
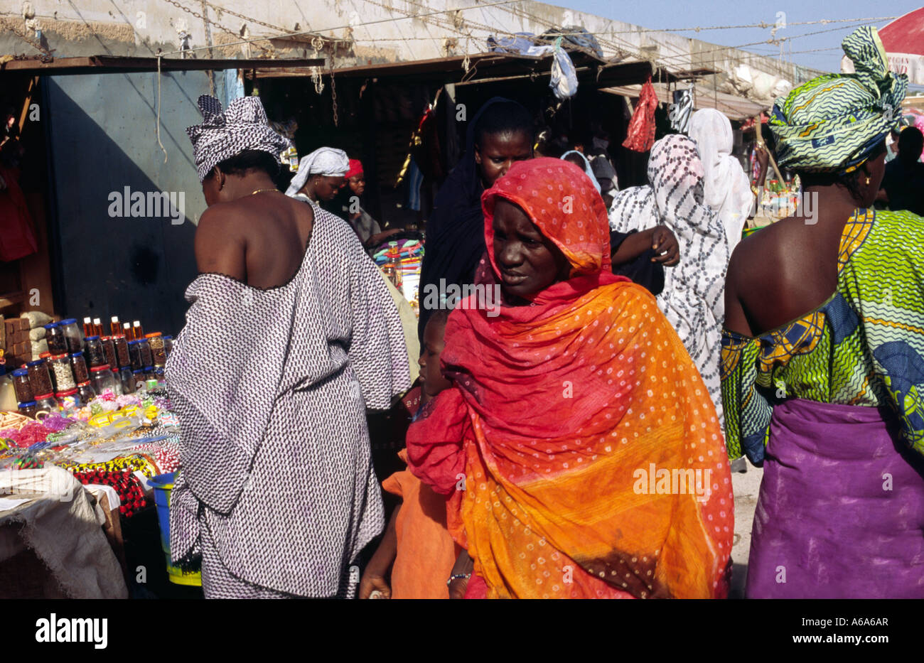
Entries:
POLYGON ((648 162, 650 187, 630 187, 616 194, 610 228, 626 233, 663 224, 676 235, 680 262, 664 269, 658 306, 693 357, 722 421, 719 346, 731 252, 721 219, 705 204, 703 174, 691 139, 672 135, 659 140, 648 162))

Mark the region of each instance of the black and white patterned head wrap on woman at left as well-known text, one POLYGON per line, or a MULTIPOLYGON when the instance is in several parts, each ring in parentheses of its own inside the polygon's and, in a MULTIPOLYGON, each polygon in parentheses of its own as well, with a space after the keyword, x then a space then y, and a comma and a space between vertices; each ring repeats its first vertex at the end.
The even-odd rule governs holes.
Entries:
POLYGON ((202 124, 187 127, 192 141, 193 157, 199 181, 203 181, 216 163, 245 150, 262 150, 281 163, 279 153, 292 143, 276 133, 266 121, 266 112, 259 97, 242 97, 228 104, 222 112, 222 102, 208 94, 199 98, 202 124))

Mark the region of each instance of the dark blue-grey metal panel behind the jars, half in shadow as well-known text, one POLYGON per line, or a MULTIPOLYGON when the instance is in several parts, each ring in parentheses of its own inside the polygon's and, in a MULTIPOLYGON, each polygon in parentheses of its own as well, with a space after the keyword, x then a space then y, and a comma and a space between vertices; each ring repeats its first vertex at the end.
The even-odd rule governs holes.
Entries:
MULTIPOLYGON (((215 78, 224 97, 225 78, 215 78)), ((156 139, 156 73, 43 79, 55 299, 63 315, 118 315, 174 334, 184 323, 183 293, 197 273, 191 222, 205 209, 185 129, 201 122, 195 101, 209 92, 209 80, 201 71, 167 73, 161 86, 166 163, 156 139), (182 193, 184 218, 110 216, 112 194, 124 195, 125 187, 146 199, 173 192, 177 203, 182 193)))

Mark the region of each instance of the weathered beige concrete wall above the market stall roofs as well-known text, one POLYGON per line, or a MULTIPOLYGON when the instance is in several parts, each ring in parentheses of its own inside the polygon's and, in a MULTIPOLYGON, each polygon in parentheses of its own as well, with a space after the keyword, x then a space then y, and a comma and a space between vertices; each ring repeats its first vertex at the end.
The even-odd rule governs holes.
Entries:
MULTIPOLYGON (((622 21, 582 14, 566 7, 523 0, 509 6, 485 6, 478 0, 281 0, 253 3, 251 0, 221 0, 212 5, 202 0, 81 0, 62 4, 59 0, 31 0, 34 18, 27 21, 21 12, 0 15, 0 53, 38 54, 15 33, 36 39, 34 28, 41 28, 41 39, 57 55, 136 54, 152 55, 179 48, 179 32, 189 34, 188 45, 213 45, 213 55, 293 57, 311 55, 310 37, 268 40, 259 45, 223 43, 282 34, 294 30, 322 30, 346 40, 336 50, 335 65, 350 66, 371 62, 419 60, 446 54, 474 54, 486 50, 485 38, 499 28, 510 32, 541 33, 554 26, 577 24, 597 34, 604 54, 624 58, 652 59, 674 70, 701 66, 719 69, 723 75, 703 81, 713 82, 722 91, 749 94, 747 83, 732 76, 737 66, 747 65, 773 78, 792 83, 815 75, 757 54, 688 39, 674 33, 649 32, 622 21), (223 6, 247 18, 219 12, 223 6), (426 14, 447 6, 467 6, 458 16, 451 13, 424 18, 403 18, 426 14), (183 7, 183 8, 180 8, 183 7), (203 18, 209 18, 207 26, 203 18), (377 22, 369 25, 360 23, 377 22), (36 23, 37 22, 37 23, 36 23), (261 25, 265 23, 266 25, 261 25), (349 26, 356 26, 350 29, 349 26), (471 39, 468 39, 468 33, 471 39), (263 49, 260 48, 263 47, 263 49)), ((7 10, 10 11, 10 10, 7 10)), ((197 56, 208 56, 198 51, 197 56)), ((323 54, 330 57, 331 49, 323 54)), ((767 101, 764 95, 760 101, 767 101)))

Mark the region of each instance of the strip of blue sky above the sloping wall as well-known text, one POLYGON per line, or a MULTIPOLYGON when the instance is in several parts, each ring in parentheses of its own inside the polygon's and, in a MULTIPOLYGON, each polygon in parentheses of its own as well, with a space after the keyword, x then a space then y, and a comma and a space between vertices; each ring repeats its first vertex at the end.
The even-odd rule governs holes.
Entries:
MULTIPOLYGON (((794 2, 754 2, 753 0, 714 0, 704 2, 693 0, 642 0, 641 2, 614 2, 613 0, 548 0, 554 5, 568 6, 578 11, 596 14, 606 18, 623 20, 645 28, 690 28, 694 26, 711 27, 719 25, 746 25, 764 21, 773 23, 777 12, 784 12, 787 23, 796 21, 820 20, 821 18, 874 18, 901 16, 920 5, 906 0, 888 0, 888 2, 859 2, 859 0, 842 0, 838 3, 794 3, 794 2)), ((888 20, 872 21, 878 28, 888 20)), ((860 23, 831 23, 818 25, 789 25, 777 30, 776 36, 793 38, 784 42, 784 59, 799 65, 811 66, 826 71, 839 71, 841 56, 840 43, 854 26, 860 23), (829 30, 821 34, 798 37, 807 32, 829 30), (802 53, 815 49, 831 49, 814 53, 802 53), (792 55, 789 52, 792 52, 792 55)), ((718 43, 723 46, 760 42, 770 38, 770 29, 745 28, 735 30, 700 30, 678 32, 685 37, 693 37, 704 42, 718 43)), ((747 46, 745 50, 779 57, 780 48, 769 43, 760 46, 747 46)))

